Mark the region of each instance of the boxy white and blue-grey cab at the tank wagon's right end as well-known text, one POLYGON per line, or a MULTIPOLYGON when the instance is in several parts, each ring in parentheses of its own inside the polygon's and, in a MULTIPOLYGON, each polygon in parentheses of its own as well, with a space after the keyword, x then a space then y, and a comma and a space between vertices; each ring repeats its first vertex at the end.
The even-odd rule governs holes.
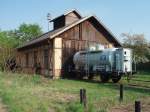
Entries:
POLYGON ((122 75, 132 74, 132 50, 118 48, 114 53, 114 68, 111 73, 112 81, 118 82, 122 75))

